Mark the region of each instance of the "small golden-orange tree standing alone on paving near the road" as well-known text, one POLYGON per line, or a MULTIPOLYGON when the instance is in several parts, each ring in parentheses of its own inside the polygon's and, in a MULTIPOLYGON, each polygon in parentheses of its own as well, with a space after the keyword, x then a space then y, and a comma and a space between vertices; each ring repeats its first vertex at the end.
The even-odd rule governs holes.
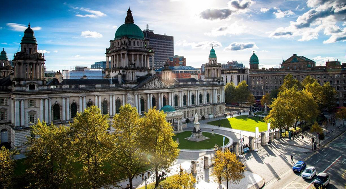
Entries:
POLYGON ((236 158, 234 153, 226 150, 225 152, 216 151, 214 160, 214 168, 212 170, 212 177, 221 184, 226 181, 226 189, 228 184, 238 184, 244 178, 244 165, 236 158))

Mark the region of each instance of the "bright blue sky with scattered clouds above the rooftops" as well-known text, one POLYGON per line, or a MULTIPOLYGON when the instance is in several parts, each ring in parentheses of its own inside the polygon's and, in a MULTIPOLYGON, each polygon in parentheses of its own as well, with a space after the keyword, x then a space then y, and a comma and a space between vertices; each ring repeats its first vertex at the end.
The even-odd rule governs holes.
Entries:
POLYGON ((211 45, 218 62, 247 67, 252 51, 266 68, 293 54, 346 62, 345 0, 6 0, 0 47, 12 59, 30 22, 47 70, 90 67, 106 60, 128 6, 141 29, 174 36, 174 54, 194 67, 208 61, 211 45))

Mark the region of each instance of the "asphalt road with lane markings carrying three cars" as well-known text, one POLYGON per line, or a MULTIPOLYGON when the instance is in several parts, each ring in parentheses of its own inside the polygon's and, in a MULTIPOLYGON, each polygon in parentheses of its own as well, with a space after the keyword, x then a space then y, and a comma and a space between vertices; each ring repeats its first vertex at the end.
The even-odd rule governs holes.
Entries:
MULTIPOLYGON (((299 160, 294 160, 299 161, 299 160)), ((317 173, 325 172, 331 177, 327 189, 345 189, 346 185, 346 132, 332 140, 317 153, 308 157, 305 162, 316 168, 317 173)), ((303 180, 300 173, 292 169, 280 175, 280 180, 266 183, 264 189, 310 189, 314 179, 303 180), (279 187, 278 187, 279 186, 279 187)))

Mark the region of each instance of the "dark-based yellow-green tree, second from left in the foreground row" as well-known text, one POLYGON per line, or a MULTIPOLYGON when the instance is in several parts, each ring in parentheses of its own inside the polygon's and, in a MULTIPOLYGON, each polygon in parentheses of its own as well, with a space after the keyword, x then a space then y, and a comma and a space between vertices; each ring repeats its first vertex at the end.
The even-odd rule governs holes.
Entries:
POLYGON ((40 122, 31 127, 26 170, 31 186, 41 189, 71 188, 74 182, 70 128, 40 122))

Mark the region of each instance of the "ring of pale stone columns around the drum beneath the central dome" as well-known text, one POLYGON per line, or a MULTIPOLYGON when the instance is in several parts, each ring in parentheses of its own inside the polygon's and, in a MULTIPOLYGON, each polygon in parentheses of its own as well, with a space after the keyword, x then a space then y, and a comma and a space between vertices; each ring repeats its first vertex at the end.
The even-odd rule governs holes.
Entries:
MULTIPOLYGON (((149 55, 120 53, 106 57, 106 68, 128 67, 129 62, 135 63, 135 67, 145 67, 150 69, 149 55), (128 56, 127 56, 128 55, 128 56), (136 59, 135 59, 136 58, 136 59), (111 63, 111 67, 109 66, 111 63)), ((154 66, 154 56, 152 55, 152 66, 154 66)))

